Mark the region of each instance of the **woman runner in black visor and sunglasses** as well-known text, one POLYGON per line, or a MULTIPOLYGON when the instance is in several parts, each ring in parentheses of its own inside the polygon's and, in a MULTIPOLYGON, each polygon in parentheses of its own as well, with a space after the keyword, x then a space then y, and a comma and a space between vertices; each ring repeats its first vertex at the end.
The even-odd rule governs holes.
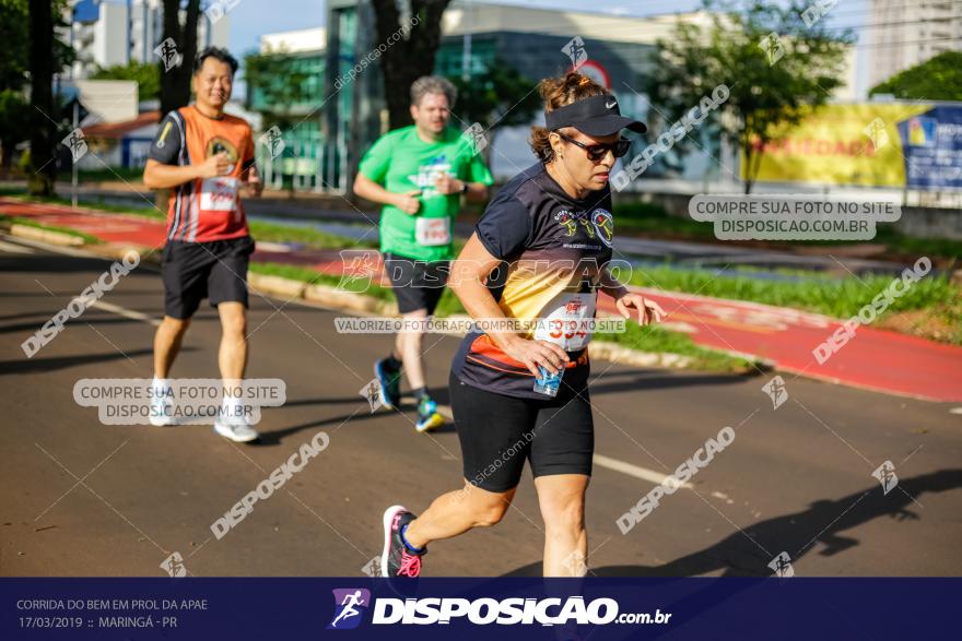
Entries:
POLYGON ((630 146, 620 132, 646 127, 621 116, 615 97, 585 75, 545 79, 540 91, 547 127, 532 128, 530 140, 539 163, 492 200, 449 278, 472 318, 533 329, 488 327, 465 337, 449 380, 465 487, 436 498, 421 517, 401 506, 385 511, 385 577, 417 577, 431 542, 501 521, 526 459, 544 520, 544 575, 587 569, 585 490, 594 454, 587 344, 597 292, 611 296, 625 318, 634 309, 641 324, 664 314, 607 265, 608 177, 630 146))

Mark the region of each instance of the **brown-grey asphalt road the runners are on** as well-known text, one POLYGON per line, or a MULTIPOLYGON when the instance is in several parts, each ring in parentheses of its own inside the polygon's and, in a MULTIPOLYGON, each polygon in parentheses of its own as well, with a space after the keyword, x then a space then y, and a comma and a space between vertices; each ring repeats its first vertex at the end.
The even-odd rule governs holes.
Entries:
MULTIPOLYGON (((108 261, 0 241, 0 575, 163 575, 174 551, 211 575, 361 575, 379 555, 383 510, 423 510, 460 485, 457 436, 413 429, 413 408, 371 414, 359 390, 390 344, 342 335, 341 313, 253 295, 251 378, 281 378, 257 446, 207 426, 105 426, 78 406, 82 378, 149 378, 157 273, 143 266, 43 347, 20 343, 108 261), (222 539, 211 523, 318 432, 329 446, 222 539)), ((204 307, 175 367, 216 377, 220 328, 204 307)), ((446 402, 458 339, 429 341, 430 383, 446 402)), ((598 574, 767 574, 787 551, 796 575, 962 573, 962 416, 952 406, 786 375, 719 376, 594 365, 595 475, 589 567, 598 574), (615 519, 658 474, 730 426, 736 438, 626 535, 615 519), (884 461, 899 484, 872 477, 884 461)), ((505 521, 431 546, 432 575, 536 574, 543 526, 526 474, 505 521)))

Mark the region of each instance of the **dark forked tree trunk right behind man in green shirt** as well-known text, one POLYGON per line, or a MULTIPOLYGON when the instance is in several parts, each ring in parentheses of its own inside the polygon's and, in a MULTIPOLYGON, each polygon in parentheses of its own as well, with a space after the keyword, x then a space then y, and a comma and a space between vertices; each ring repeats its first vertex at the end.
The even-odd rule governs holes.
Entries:
POLYGON ((402 26, 397 0, 372 0, 377 41, 387 45, 380 69, 390 129, 411 123, 411 84, 434 71, 434 57, 441 45, 441 16, 449 2, 410 0, 411 20, 402 26))

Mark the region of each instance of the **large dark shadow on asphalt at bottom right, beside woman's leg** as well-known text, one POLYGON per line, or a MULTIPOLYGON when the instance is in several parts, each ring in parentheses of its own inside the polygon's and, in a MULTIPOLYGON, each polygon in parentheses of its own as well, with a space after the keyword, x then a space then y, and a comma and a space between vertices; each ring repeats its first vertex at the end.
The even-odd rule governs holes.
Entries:
MULTIPOLYGON (((696 577, 722 571, 724 577, 772 575, 769 563, 783 551, 795 563, 814 549, 817 543, 826 547, 822 556, 834 556, 859 544, 857 538, 840 534, 879 517, 899 521, 920 519, 908 510, 919 496, 962 487, 962 468, 940 470, 912 478, 882 494, 880 485, 850 494, 837 500, 819 500, 801 512, 769 519, 734 532, 705 549, 662 566, 605 566, 591 568, 598 577, 696 577), (763 549, 764 548, 764 549, 763 549)), ((644 523, 644 522, 642 522, 644 523)), ((642 524, 629 535, 641 541, 642 524)), ((884 570, 880 568, 880 570, 884 570)), ((538 577, 541 563, 513 570, 506 577, 538 577)))

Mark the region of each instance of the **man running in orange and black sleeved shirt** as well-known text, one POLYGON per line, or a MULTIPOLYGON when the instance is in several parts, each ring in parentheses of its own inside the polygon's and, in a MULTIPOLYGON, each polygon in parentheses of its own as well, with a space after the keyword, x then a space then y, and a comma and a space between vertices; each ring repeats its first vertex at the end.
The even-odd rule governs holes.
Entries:
MULTIPOLYGON (((237 60, 224 49, 201 51, 193 67, 195 104, 167 114, 150 149, 143 182, 171 189, 162 259, 164 320, 154 337, 154 388, 165 390, 190 318, 204 298, 223 328, 219 363, 225 387, 247 365, 247 263, 254 240, 239 193, 260 195, 250 126, 224 112, 237 60)), ((151 422, 171 425, 169 401, 154 394, 151 422)), ((214 430, 237 442, 257 439, 241 399, 225 395, 214 430)))

